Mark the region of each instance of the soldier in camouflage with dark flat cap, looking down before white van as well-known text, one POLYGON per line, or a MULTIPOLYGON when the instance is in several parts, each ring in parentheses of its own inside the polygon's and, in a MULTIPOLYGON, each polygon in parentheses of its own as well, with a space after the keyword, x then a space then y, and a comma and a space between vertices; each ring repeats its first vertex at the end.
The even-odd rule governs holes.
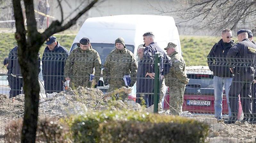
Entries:
POLYGON ((97 83, 101 74, 101 59, 88 38, 83 38, 69 55, 64 68, 65 79, 70 80, 72 89, 78 86, 92 87, 92 82, 97 83), (95 69, 95 72, 94 72, 95 69), (95 77, 90 82, 90 74, 95 77))

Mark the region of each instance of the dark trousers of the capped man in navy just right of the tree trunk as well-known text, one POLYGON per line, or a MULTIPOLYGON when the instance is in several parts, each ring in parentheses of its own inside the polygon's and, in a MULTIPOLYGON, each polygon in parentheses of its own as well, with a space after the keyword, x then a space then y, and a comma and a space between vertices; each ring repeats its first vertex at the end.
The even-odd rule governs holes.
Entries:
POLYGON ((64 91, 62 78, 52 78, 44 81, 45 93, 61 92, 64 91))

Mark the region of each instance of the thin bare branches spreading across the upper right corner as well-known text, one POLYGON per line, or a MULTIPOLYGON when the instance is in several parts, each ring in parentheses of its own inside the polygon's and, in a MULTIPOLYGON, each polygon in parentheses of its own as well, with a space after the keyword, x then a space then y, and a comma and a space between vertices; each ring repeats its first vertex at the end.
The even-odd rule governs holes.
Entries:
MULTIPOLYGON (((247 25, 256 30, 255 0, 177 0, 180 7, 170 9, 169 5, 161 5, 155 9, 159 14, 176 15, 181 22, 196 20, 199 29, 210 27, 216 31, 229 27, 247 25)), ((180 23, 180 22, 179 22, 180 23)), ((243 26, 244 27, 244 26, 243 26)))

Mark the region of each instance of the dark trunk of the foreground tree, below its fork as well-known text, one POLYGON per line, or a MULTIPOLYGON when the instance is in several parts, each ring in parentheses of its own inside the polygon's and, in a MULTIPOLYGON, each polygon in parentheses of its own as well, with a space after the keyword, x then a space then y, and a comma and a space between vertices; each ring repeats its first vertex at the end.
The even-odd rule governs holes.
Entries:
MULTIPOLYGON (((23 89, 25 93, 25 113, 23 118, 21 142, 34 143, 37 131, 37 116, 39 105, 38 60, 37 51, 19 49, 22 55, 19 57, 21 72, 23 75, 23 89), (29 51, 29 52, 28 52, 29 51)), ((35 48, 28 48, 35 49, 35 48)))

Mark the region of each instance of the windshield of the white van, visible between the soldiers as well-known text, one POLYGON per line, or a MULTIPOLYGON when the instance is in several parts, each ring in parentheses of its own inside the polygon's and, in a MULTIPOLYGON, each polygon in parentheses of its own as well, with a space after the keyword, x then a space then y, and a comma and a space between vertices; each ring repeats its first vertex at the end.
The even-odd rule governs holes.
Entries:
MULTIPOLYGON (((115 44, 104 44, 104 43, 91 43, 93 49, 95 49, 101 58, 101 64, 104 65, 106 58, 108 54, 115 49, 115 44)), ((133 45, 125 45, 126 49, 130 50, 132 53, 134 52, 134 46, 133 45)), ((77 48, 77 43, 74 43, 71 47, 70 52, 77 48)))

